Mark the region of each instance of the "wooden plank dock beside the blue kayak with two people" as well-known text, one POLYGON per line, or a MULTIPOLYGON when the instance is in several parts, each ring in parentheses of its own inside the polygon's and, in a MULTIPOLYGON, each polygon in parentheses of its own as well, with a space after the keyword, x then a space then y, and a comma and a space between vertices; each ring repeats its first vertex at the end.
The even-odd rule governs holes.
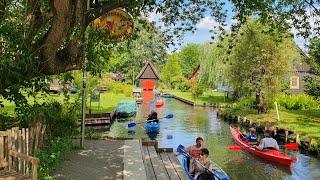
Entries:
POLYGON ((154 141, 126 140, 123 171, 125 180, 188 179, 172 148, 158 148, 154 141))

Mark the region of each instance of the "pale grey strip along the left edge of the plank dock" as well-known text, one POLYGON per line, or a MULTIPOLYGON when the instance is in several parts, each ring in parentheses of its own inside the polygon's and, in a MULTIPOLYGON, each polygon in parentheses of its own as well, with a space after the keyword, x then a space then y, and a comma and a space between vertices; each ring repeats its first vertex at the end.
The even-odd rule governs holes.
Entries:
POLYGON ((125 140, 123 161, 124 180, 147 180, 139 140, 125 140))

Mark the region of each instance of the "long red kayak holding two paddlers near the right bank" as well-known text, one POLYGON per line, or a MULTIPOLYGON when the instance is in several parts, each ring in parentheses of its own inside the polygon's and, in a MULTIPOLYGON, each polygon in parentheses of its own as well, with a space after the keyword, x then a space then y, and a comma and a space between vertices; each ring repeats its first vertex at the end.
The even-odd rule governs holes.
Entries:
POLYGON ((259 149, 252 147, 247 142, 242 141, 240 138, 240 135, 242 135, 242 133, 238 129, 230 126, 230 130, 237 144, 239 144, 243 149, 246 149, 247 151, 256 156, 289 167, 292 165, 292 163, 296 162, 297 160, 296 158, 291 158, 277 150, 260 151, 259 149))

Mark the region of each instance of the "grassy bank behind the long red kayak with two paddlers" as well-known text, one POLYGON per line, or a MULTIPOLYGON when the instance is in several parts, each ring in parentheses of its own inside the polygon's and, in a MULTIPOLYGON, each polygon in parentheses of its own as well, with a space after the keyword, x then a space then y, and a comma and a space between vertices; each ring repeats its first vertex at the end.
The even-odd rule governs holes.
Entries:
POLYGON ((280 120, 277 120, 275 110, 267 114, 258 114, 257 110, 241 107, 228 108, 225 114, 246 117, 253 122, 271 123, 280 128, 286 128, 304 137, 320 138, 320 110, 280 110, 280 120))

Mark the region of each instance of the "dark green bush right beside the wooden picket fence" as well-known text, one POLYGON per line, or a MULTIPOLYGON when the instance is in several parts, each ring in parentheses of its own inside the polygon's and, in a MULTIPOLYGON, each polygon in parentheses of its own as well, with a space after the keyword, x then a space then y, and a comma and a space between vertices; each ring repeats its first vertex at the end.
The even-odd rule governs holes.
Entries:
POLYGON ((42 149, 35 152, 40 159, 39 179, 53 179, 50 174, 56 170, 73 147, 71 138, 54 138, 42 149))

